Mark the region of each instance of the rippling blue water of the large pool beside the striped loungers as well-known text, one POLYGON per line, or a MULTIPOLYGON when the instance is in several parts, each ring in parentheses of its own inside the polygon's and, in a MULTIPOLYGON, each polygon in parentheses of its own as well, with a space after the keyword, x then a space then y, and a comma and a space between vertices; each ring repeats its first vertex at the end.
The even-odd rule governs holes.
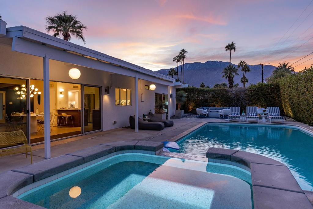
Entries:
POLYGON ((265 125, 206 124, 182 138, 180 150, 205 155, 210 147, 239 149, 284 163, 303 190, 313 190, 313 137, 295 128, 265 125))

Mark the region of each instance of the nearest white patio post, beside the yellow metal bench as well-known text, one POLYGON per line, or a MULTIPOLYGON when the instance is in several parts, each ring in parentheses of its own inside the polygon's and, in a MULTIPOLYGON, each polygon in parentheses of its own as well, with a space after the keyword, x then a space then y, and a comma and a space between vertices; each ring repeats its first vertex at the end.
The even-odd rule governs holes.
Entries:
POLYGON ((51 158, 49 58, 46 57, 44 57, 44 158, 51 158))

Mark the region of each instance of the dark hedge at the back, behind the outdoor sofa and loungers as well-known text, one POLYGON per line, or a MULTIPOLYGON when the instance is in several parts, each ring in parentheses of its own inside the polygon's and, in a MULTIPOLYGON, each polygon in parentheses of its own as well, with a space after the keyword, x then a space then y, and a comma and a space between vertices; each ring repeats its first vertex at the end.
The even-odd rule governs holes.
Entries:
POLYGON ((180 88, 187 93, 187 101, 182 107, 186 112, 195 112, 197 107, 241 107, 246 112, 247 106, 279 106, 280 90, 278 84, 258 83, 248 88, 180 88))

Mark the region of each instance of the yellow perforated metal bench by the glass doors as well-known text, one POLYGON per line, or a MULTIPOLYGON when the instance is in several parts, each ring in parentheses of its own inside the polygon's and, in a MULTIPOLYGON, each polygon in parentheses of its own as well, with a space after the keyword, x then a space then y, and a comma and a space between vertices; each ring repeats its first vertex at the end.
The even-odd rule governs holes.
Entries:
POLYGON ((33 164, 32 147, 27 144, 27 138, 23 131, 12 131, 0 133, 0 156, 30 152, 31 163, 33 164))

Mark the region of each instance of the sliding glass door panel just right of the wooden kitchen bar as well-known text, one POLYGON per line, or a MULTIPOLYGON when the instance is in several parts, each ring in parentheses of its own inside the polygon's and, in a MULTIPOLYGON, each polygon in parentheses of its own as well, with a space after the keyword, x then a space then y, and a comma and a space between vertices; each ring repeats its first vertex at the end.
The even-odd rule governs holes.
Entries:
POLYGON ((101 130, 101 88, 84 85, 84 132, 101 130))

